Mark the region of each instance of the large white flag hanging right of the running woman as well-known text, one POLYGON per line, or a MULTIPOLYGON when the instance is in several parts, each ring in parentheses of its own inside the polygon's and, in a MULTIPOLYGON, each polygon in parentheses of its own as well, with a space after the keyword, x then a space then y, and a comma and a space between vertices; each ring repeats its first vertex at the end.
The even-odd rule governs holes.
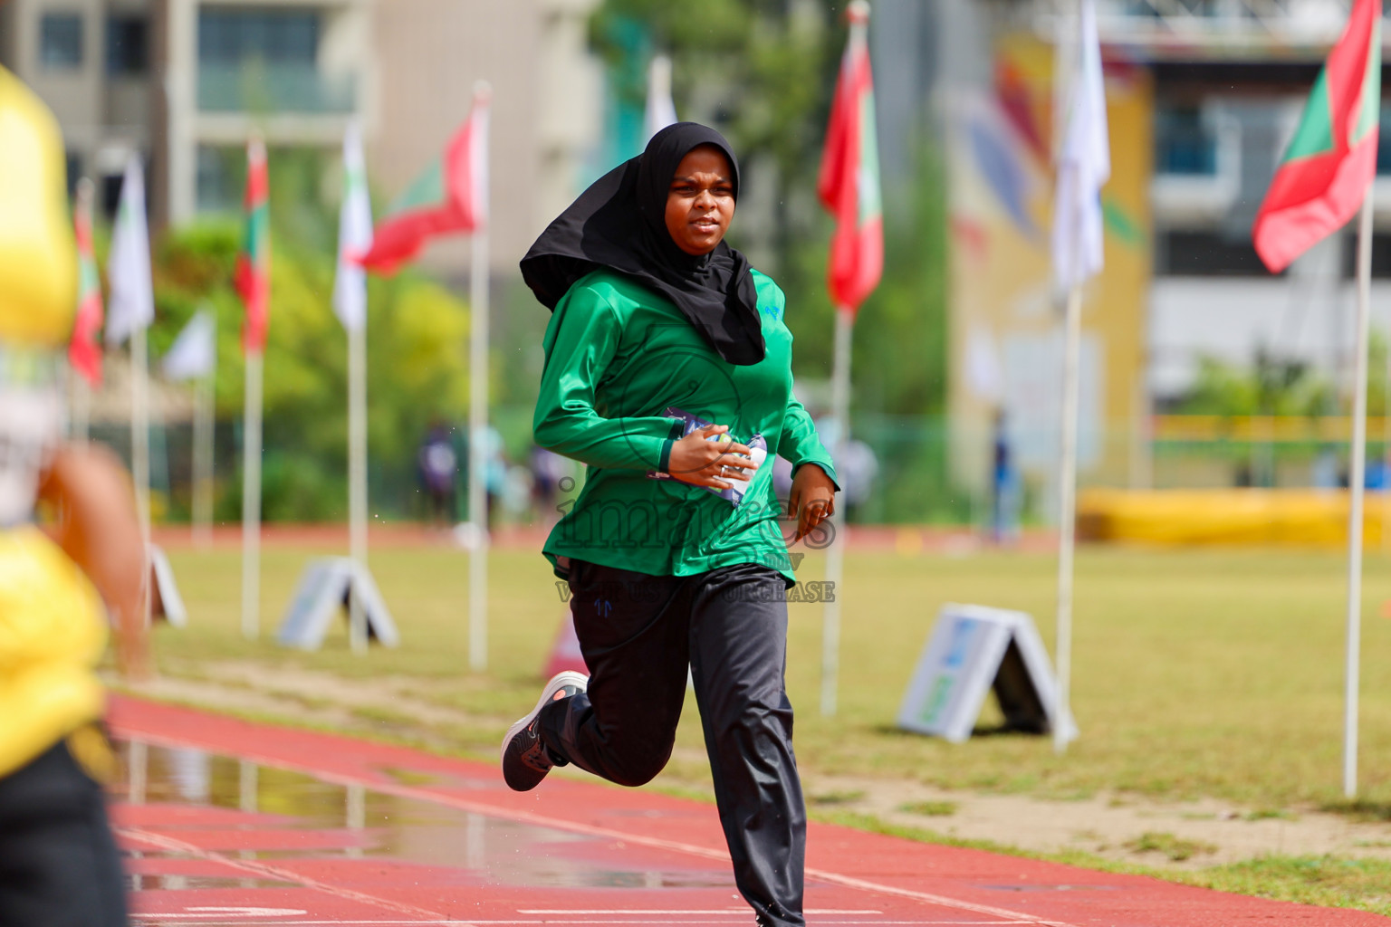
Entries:
MULTIPOLYGON (((1078 26, 1067 128, 1053 195, 1053 277, 1063 289, 1077 286, 1102 270, 1102 188, 1111 177, 1095 0, 1081 0, 1078 26)), ((1057 72, 1059 79, 1066 76, 1063 67, 1057 72)))

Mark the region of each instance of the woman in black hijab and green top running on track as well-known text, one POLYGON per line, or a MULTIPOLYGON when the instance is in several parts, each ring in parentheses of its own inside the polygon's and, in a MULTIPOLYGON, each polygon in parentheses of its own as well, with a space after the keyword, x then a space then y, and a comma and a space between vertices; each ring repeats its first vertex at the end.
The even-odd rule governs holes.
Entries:
POLYGON ((591 675, 545 685, 504 738, 502 773, 517 791, 568 763, 648 782, 689 668, 734 883, 759 924, 793 927, 807 841, 783 681, 794 577, 772 466, 750 443, 791 460, 798 538, 837 486, 791 392, 782 290, 723 243, 737 196, 729 142, 677 122, 522 260, 552 310, 536 442, 588 467, 542 550, 570 584, 591 675))

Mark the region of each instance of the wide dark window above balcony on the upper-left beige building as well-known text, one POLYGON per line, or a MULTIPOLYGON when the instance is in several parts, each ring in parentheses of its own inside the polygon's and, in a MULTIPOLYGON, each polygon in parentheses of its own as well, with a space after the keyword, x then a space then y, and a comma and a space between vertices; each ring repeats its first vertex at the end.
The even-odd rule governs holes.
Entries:
POLYGON ((314 67, 319 14, 203 7, 198 15, 198 56, 202 64, 236 65, 260 58, 267 64, 314 67))

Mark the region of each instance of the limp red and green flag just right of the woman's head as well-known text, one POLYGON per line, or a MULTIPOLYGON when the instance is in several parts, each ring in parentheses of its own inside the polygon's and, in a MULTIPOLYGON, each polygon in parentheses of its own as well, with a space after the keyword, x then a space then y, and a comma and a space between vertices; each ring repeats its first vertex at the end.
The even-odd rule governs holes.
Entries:
POLYGON ((830 104, 817 195, 836 217, 828 274, 830 297, 840 310, 854 313, 883 274, 883 208, 867 35, 869 4, 855 0, 847 15, 850 40, 830 104))

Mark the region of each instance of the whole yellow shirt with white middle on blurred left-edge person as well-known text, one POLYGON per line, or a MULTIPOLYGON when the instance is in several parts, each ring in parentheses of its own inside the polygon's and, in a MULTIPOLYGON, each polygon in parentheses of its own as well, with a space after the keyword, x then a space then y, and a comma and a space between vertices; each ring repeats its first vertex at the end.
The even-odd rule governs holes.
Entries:
POLYGON ((63 138, 0 68, 0 777, 102 716, 96 589, 33 524, 78 289, 63 138))

